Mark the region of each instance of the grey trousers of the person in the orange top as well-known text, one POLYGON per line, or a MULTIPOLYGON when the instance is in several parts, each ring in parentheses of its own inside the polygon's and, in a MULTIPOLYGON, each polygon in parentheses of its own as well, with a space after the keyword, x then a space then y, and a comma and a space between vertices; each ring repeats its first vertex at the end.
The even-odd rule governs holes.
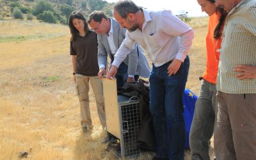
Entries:
POLYGON ((189 133, 191 159, 210 159, 209 141, 214 132, 216 114, 216 84, 203 79, 189 133))

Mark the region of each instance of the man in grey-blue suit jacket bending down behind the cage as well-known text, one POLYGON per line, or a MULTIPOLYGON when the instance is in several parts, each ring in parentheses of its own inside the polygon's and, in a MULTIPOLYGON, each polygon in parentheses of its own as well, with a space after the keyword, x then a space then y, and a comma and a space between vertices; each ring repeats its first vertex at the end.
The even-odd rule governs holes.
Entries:
MULTIPOLYGON (((88 17, 90 28, 98 35, 98 63, 99 77, 106 75, 108 55, 111 61, 115 58, 115 53, 124 41, 126 29, 113 18, 108 18, 103 12, 92 12, 88 17)), ((116 74, 117 87, 122 87, 125 82, 138 80, 138 76, 148 78, 150 67, 147 58, 140 45, 121 63, 116 74)))

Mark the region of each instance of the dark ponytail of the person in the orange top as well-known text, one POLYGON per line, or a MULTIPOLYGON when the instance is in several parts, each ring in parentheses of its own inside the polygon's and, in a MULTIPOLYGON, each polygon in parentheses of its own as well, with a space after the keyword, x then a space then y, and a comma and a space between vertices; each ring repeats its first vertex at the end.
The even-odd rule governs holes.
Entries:
MULTIPOLYGON (((215 0, 208 0, 208 1, 210 1, 211 3, 215 3, 215 0)), ((227 16, 227 12, 221 6, 218 6, 217 12, 220 12, 221 16, 219 19, 219 23, 217 24, 216 28, 214 29, 214 34, 213 34, 214 39, 218 39, 221 37, 221 34, 222 34, 221 26, 223 25, 224 20, 227 16)))

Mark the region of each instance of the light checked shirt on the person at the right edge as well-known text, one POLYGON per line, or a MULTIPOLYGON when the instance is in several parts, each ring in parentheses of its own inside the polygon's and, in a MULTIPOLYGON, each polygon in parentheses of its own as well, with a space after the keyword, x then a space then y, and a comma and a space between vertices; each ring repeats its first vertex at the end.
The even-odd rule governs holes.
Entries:
POLYGON ((256 93, 256 79, 239 80, 236 65, 256 65, 255 0, 241 1, 227 15, 216 87, 224 93, 256 93))

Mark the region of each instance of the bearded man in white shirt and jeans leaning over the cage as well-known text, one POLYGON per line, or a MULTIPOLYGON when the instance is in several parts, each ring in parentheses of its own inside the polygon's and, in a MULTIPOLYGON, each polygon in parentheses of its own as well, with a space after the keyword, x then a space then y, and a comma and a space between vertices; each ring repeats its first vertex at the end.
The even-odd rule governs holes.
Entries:
POLYGON ((184 159, 186 131, 182 97, 188 78, 187 54, 194 38, 193 29, 170 11, 150 12, 132 1, 118 1, 114 17, 128 31, 107 77, 115 76, 116 68, 136 42, 145 49, 153 62, 149 79, 156 139, 153 159, 184 159))

